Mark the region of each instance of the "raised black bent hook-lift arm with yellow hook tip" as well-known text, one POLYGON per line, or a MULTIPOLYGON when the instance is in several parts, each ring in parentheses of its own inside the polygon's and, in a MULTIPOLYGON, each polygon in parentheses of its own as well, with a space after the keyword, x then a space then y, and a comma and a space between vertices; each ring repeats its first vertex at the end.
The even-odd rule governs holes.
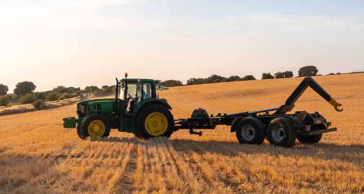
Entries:
POLYGON ((273 114, 285 114, 290 112, 293 107, 295 107, 295 102, 298 98, 303 94, 303 92, 311 87, 317 94, 323 97, 326 101, 328 101, 335 109, 335 111, 341 112, 343 109, 338 109, 337 107, 341 106, 340 103, 336 102, 313 78, 310 76, 303 79, 303 81, 298 85, 295 91, 291 94, 290 97, 286 100, 286 102, 279 107, 279 109, 273 114))

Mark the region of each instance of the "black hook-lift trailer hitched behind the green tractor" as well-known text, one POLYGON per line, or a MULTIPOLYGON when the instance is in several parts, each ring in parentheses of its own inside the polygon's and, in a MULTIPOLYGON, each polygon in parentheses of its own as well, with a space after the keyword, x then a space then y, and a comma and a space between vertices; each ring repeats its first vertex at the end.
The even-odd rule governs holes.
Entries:
POLYGON ((260 111, 210 115, 204 109, 196 109, 190 118, 175 120, 174 131, 179 129, 189 129, 190 134, 202 135, 195 129, 215 129, 217 125, 231 126, 230 132, 235 132, 241 144, 260 145, 265 139, 271 145, 291 147, 296 139, 301 143, 318 143, 322 134, 336 131, 330 128, 331 122, 318 112, 307 113, 298 111, 287 114, 295 107, 295 102, 303 92, 311 87, 316 93, 327 100, 335 109, 341 106, 337 103, 316 81, 311 77, 306 77, 298 85, 296 90, 277 108, 265 109, 260 111), (274 112, 274 113, 271 113, 274 112))

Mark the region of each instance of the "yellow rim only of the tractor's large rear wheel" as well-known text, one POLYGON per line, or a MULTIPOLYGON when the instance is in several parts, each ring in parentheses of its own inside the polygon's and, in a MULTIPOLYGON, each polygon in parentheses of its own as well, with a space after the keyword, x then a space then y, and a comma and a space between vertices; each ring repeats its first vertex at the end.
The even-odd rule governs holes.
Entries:
POLYGON ((167 130, 168 121, 162 113, 150 113, 145 119, 145 129, 150 135, 160 136, 167 130))

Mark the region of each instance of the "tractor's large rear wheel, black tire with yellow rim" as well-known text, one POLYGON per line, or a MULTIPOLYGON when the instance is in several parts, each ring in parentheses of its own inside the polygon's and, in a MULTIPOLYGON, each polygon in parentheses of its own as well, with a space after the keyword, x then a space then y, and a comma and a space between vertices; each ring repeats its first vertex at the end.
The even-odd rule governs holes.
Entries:
POLYGON ((153 104, 145 107, 136 118, 135 136, 141 139, 153 137, 169 138, 174 129, 172 113, 162 105, 153 104))

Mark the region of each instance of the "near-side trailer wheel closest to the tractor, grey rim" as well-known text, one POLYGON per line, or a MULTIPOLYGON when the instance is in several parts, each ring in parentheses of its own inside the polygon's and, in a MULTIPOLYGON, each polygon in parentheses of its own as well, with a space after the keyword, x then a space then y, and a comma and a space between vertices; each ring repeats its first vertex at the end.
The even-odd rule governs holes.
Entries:
POLYGON ((240 144, 261 145, 265 139, 264 124, 254 117, 247 117, 239 121, 235 132, 240 144))

